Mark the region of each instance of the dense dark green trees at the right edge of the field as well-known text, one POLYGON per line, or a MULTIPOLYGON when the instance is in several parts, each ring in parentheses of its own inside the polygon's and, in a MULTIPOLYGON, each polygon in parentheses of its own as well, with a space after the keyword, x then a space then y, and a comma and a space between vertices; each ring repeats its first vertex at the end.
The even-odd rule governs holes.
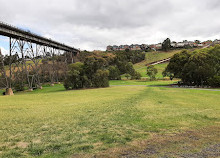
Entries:
POLYGON ((163 75, 183 85, 220 87, 220 46, 175 54, 163 75))

